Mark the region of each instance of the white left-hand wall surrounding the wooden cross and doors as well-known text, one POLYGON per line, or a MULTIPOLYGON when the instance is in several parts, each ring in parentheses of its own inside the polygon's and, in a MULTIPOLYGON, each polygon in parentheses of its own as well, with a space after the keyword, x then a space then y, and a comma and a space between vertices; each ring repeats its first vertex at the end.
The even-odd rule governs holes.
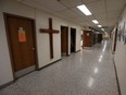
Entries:
POLYGON ((49 35, 39 33, 39 28, 49 27, 48 25, 49 17, 52 17, 53 20, 54 29, 60 31, 61 25, 68 26, 70 28, 71 27, 76 28, 77 31, 76 51, 80 49, 81 26, 67 22, 63 19, 51 15, 49 13, 42 12, 41 10, 37 10, 28 5, 24 5, 14 0, 0 0, 0 85, 13 80, 11 60, 10 60, 10 55, 9 55, 9 47, 8 47, 7 35, 5 35, 3 12, 35 19, 39 68, 46 64, 49 64, 50 62, 61 59, 61 36, 60 36, 61 33, 53 34, 53 49, 54 49, 53 60, 50 60, 50 57, 49 57, 50 55, 49 54, 49 35))

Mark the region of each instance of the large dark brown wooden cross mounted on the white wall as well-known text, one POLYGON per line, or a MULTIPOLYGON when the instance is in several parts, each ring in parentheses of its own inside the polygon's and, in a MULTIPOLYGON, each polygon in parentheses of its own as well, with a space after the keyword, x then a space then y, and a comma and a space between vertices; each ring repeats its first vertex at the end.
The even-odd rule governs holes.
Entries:
POLYGON ((49 19, 49 28, 40 28, 40 33, 48 33, 49 34, 49 39, 50 39, 50 58, 53 58, 53 35, 52 34, 58 34, 58 29, 52 28, 52 19, 49 19))

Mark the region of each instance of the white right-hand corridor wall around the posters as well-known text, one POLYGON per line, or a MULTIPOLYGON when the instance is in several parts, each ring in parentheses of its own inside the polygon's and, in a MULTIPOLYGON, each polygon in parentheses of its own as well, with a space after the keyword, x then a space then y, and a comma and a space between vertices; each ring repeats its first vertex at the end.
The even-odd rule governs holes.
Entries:
MULTIPOLYGON (((122 27, 124 22, 126 22, 126 8, 122 15, 122 21, 118 23, 118 25, 122 27)), ((125 31, 126 31, 126 26, 125 26, 125 31)), ((114 60, 117 69, 117 75, 118 75, 122 95, 126 95, 126 45, 124 45, 123 41, 117 40, 114 60)))

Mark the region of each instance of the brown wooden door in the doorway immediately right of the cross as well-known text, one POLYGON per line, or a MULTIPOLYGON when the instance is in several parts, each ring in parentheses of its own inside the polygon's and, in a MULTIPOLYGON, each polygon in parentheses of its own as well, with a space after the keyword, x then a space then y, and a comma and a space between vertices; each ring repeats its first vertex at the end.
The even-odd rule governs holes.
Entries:
POLYGON ((68 56, 68 27, 61 26, 61 56, 68 56))

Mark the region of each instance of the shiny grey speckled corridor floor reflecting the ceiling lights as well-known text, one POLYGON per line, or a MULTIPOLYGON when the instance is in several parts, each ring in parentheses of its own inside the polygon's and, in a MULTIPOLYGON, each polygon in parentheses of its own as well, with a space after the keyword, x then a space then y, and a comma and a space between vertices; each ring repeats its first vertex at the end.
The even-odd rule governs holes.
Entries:
POLYGON ((108 41, 23 76, 0 95, 118 95, 108 41))

